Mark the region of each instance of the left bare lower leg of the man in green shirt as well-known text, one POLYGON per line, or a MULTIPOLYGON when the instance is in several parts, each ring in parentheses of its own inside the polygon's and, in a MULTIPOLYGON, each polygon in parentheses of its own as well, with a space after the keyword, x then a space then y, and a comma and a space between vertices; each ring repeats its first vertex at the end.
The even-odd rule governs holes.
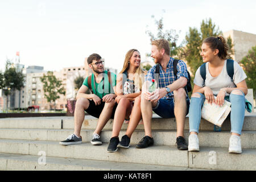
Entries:
POLYGON ((75 114, 74 114, 74 119, 75 119, 75 126, 74 126, 74 134, 77 137, 80 136, 81 132, 81 127, 82 127, 82 122, 84 122, 84 110, 88 109, 89 107, 89 100, 86 98, 79 98, 76 101, 76 107, 75 107, 75 114))

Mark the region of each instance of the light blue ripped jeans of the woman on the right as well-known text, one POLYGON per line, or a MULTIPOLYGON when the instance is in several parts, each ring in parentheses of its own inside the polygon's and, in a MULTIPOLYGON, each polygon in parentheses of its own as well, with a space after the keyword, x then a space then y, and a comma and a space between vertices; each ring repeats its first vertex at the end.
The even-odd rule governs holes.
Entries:
MULTIPOLYGON (((241 92, 240 94, 234 94, 233 90, 229 97, 225 97, 225 100, 231 102, 231 133, 242 133, 243 119, 245 118, 245 94, 241 92)), ((203 107, 205 96, 200 94, 200 97, 191 97, 190 107, 189 107, 189 133, 196 132, 199 133, 199 125, 201 121, 201 109, 203 107)))

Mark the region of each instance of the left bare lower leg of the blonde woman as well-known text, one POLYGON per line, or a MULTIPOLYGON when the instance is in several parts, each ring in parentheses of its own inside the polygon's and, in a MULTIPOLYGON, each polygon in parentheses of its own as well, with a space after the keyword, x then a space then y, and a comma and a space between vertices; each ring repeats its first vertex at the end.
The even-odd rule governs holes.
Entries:
POLYGON ((112 137, 118 137, 123 121, 125 120, 126 110, 129 109, 130 101, 127 98, 121 98, 115 110, 112 137))

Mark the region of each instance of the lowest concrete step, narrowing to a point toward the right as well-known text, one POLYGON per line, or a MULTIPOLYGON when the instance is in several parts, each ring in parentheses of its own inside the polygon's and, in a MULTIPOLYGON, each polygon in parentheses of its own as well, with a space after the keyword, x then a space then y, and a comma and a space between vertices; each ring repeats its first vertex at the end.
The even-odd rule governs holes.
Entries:
POLYGON ((187 167, 0 153, 0 171, 197 171, 187 167))

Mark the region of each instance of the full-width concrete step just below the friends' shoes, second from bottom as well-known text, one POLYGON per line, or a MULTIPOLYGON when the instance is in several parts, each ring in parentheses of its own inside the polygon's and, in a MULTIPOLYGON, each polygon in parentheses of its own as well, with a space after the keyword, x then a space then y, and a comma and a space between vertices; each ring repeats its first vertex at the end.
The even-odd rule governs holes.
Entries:
POLYGON ((185 168, 256 170, 256 150, 243 149, 242 154, 229 154, 228 148, 200 147, 200 152, 179 151, 171 146, 151 146, 138 149, 135 146, 120 148, 118 152, 107 152, 108 144, 92 146, 82 143, 61 146, 59 142, 35 140, 0 140, 0 152, 46 156, 104 160, 111 162, 152 164, 185 168))

